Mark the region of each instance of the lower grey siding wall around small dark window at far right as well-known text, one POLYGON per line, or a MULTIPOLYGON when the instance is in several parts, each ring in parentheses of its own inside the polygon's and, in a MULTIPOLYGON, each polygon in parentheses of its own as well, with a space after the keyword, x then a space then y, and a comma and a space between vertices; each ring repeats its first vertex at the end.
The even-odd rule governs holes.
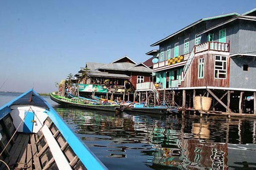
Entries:
POLYGON ((256 58, 236 56, 230 59, 230 87, 256 89, 256 58), (248 71, 243 71, 243 64, 248 64, 248 71))

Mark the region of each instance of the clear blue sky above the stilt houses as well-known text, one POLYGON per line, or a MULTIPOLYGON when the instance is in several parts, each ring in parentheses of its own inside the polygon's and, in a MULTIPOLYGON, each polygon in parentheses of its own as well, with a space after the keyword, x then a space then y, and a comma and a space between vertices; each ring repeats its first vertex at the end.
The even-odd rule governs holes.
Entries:
POLYGON ((56 91, 85 62, 135 62, 150 44, 205 17, 244 13, 255 0, 1 0, 0 91, 56 91))

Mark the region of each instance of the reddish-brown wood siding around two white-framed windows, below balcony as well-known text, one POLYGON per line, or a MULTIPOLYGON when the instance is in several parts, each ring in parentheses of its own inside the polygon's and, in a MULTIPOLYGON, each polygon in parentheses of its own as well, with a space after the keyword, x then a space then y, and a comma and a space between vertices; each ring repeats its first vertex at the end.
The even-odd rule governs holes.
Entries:
POLYGON ((195 56, 191 68, 187 72, 183 87, 200 87, 200 86, 214 86, 214 87, 229 87, 229 67, 230 57, 227 56, 227 75, 226 79, 214 78, 214 64, 215 54, 205 53, 204 55, 195 56), (199 58, 204 58, 204 78, 198 79, 198 61, 199 58))

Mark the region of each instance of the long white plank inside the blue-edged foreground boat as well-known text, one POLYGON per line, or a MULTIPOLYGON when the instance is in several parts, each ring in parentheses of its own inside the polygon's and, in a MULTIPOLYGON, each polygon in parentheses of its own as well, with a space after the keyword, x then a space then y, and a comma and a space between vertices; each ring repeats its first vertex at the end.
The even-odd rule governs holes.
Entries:
POLYGON ((46 125, 43 126, 42 132, 45 136, 45 139, 49 145, 50 151, 52 152, 52 156, 54 157, 54 160, 58 168, 61 170, 72 170, 67 158, 61 151, 61 148, 59 148, 58 142, 53 137, 52 132, 49 130, 49 128, 46 125))

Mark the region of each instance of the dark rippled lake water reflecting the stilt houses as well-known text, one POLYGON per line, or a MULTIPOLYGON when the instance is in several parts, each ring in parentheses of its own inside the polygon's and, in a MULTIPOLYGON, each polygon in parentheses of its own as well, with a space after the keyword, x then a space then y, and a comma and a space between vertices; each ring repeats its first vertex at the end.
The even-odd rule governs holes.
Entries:
MULTIPOLYGON (((0 92, 0 106, 19 94, 0 92)), ((44 98, 109 170, 256 169, 256 119, 115 115, 44 98)))

